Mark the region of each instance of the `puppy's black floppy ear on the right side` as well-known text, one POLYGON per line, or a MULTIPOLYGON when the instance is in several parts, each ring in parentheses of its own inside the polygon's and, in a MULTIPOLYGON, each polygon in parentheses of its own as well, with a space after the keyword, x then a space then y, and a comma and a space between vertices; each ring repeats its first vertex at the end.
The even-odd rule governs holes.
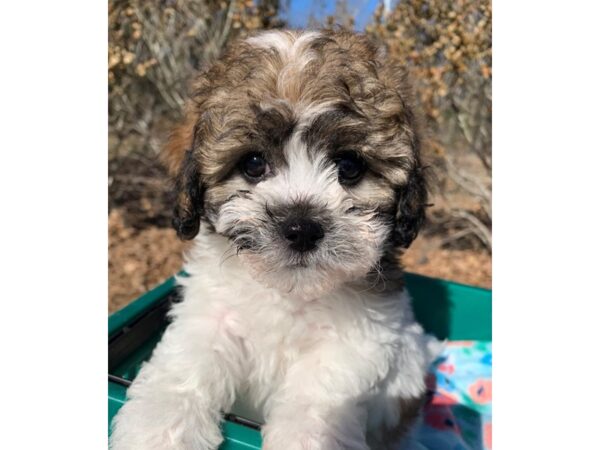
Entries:
POLYGON ((407 182, 397 189, 396 195, 398 203, 394 240, 397 246, 408 248, 419 234, 427 207, 427 180, 418 160, 409 172, 407 182))

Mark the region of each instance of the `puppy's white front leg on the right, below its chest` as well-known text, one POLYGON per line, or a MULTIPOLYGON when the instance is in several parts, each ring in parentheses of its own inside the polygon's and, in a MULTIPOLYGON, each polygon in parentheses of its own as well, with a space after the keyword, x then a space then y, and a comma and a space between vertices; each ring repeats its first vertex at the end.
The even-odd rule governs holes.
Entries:
POLYGON ((366 450, 377 368, 341 342, 319 345, 290 367, 266 405, 264 450, 366 450))

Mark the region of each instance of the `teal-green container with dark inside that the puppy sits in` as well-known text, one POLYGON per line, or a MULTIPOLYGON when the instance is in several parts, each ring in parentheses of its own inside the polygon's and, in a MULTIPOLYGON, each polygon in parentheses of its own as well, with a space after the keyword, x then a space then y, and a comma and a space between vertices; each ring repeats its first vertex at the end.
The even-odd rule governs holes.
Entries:
MULTIPOLYGON (((413 309, 425 330, 440 339, 492 340, 492 291, 407 274, 413 309)), ((127 386, 150 358, 168 322, 170 305, 179 301, 174 278, 142 295, 108 318, 108 420, 125 402, 127 386)), ((229 414, 222 450, 260 449, 259 425, 229 414)))

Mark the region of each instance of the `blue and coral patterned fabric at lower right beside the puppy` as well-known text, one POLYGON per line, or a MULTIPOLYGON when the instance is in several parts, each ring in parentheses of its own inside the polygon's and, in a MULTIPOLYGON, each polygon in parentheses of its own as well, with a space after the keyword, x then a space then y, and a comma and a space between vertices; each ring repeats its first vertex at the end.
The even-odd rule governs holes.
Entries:
POLYGON ((422 424, 403 450, 492 448, 491 342, 448 342, 428 387, 422 424))

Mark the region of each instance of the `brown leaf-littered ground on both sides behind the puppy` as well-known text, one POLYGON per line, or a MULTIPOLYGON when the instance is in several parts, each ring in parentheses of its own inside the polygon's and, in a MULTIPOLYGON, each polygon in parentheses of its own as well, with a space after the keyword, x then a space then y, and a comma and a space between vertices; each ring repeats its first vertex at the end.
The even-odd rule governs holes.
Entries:
MULTIPOLYGON (((109 214, 109 311, 114 312, 181 268, 185 249, 171 228, 127 225, 127 213, 109 214)), ((403 257, 406 270, 491 287, 491 257, 483 250, 444 249, 420 236, 403 257)))

